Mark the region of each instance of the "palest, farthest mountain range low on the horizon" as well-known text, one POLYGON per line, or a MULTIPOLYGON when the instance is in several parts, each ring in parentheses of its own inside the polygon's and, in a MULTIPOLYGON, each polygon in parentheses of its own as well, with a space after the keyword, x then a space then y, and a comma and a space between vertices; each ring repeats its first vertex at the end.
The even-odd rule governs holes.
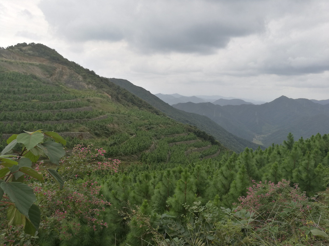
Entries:
POLYGON ((263 104, 265 102, 262 101, 254 101, 249 99, 241 99, 234 97, 223 97, 223 96, 182 96, 180 94, 155 94, 162 101, 166 102, 169 105, 174 105, 177 103, 207 103, 211 102, 216 105, 224 106, 224 105, 241 105, 241 104, 263 104))

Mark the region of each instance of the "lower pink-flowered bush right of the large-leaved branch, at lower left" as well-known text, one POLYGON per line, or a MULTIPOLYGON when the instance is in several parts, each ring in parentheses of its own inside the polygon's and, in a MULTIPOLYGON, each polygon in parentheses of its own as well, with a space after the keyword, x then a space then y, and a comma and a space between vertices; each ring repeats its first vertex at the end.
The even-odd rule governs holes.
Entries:
POLYGON ((80 184, 69 183, 63 190, 50 190, 44 185, 33 185, 40 209, 43 211, 39 234, 57 229, 59 240, 70 241, 83 228, 99 231, 107 227, 104 212, 111 204, 99 194, 101 186, 92 180, 80 184))

